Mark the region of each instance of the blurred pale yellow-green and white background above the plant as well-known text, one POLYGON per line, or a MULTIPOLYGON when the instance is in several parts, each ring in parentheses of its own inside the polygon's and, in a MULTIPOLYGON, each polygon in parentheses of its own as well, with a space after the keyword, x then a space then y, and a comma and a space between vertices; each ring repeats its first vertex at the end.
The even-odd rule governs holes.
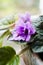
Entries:
POLYGON ((0 18, 26 11, 43 14, 43 0, 0 0, 0 18))

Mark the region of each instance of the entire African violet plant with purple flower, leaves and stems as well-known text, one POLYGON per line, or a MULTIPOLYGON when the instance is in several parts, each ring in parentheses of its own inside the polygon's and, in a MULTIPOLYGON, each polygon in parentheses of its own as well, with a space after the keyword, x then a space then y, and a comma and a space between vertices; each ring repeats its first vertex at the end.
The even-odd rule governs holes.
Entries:
POLYGON ((31 20, 28 13, 15 17, 0 20, 0 31, 5 32, 0 35, 0 65, 19 65, 21 54, 30 49, 33 53, 43 52, 43 16, 37 20, 31 20), (7 19, 7 20, 6 20, 7 19), (26 47, 19 54, 10 47, 2 47, 4 38, 26 47))

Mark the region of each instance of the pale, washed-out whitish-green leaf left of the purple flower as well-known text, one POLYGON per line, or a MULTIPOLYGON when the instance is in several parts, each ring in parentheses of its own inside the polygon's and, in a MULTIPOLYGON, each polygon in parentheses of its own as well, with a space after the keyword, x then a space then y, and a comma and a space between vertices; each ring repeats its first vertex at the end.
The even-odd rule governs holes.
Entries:
POLYGON ((14 16, 5 17, 0 20, 0 30, 8 29, 15 22, 14 16))

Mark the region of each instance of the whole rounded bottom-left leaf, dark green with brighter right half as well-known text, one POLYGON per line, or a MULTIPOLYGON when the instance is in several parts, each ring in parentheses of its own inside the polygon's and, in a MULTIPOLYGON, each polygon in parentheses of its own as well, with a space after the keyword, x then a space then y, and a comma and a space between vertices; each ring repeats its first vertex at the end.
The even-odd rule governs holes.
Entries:
POLYGON ((19 56, 12 47, 0 48, 0 65, 18 65, 19 56))

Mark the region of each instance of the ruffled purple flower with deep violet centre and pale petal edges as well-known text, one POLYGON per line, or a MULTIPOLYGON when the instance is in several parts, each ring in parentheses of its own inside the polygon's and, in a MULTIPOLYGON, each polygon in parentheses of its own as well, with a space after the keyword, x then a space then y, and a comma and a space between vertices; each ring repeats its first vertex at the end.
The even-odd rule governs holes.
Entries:
POLYGON ((30 15, 21 15, 15 23, 15 27, 11 32, 13 37, 11 40, 30 41, 31 35, 35 34, 35 28, 31 23, 30 15))

